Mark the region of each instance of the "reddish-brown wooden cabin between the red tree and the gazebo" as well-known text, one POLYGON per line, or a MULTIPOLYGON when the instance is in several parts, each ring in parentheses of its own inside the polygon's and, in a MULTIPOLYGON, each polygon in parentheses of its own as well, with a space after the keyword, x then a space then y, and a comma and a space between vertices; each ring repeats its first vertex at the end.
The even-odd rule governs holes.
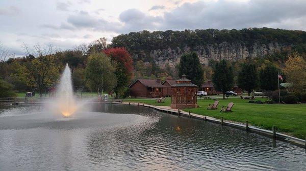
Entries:
POLYGON ((161 84, 161 80, 137 79, 130 86, 132 97, 163 97, 167 87, 161 84))

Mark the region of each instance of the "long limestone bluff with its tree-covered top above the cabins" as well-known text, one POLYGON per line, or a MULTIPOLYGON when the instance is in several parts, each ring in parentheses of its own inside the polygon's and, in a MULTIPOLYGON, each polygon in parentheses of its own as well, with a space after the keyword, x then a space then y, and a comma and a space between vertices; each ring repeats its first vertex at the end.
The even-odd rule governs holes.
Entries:
POLYGON ((183 31, 139 31, 114 37, 111 46, 126 47, 134 62, 154 61, 159 66, 174 67, 181 55, 194 51, 200 62, 231 61, 262 57, 267 54, 297 50, 306 53, 306 32, 273 28, 196 29, 183 31))

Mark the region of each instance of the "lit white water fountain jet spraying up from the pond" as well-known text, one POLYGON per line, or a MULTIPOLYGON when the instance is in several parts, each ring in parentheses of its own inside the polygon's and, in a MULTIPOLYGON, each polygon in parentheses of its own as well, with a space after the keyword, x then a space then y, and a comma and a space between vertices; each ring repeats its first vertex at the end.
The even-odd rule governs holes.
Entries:
POLYGON ((56 106, 64 117, 69 117, 77 110, 77 104, 73 96, 71 70, 68 63, 57 87, 57 97, 56 106))

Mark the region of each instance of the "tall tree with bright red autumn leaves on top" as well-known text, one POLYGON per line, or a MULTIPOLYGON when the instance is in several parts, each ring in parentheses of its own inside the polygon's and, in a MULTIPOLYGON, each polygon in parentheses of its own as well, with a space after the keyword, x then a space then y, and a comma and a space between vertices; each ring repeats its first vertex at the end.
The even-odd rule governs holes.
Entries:
POLYGON ((109 48, 104 50, 104 53, 111 57, 116 62, 115 76, 117 78, 117 85, 114 89, 116 98, 119 97, 119 91, 129 85, 133 77, 133 59, 129 52, 123 47, 109 48))

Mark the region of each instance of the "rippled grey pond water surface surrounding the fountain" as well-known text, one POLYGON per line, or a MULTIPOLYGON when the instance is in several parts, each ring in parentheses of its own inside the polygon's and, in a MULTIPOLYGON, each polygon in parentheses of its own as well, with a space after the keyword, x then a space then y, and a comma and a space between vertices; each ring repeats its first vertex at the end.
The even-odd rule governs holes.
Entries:
POLYGON ((95 105, 69 119, 21 109, 1 110, 0 170, 306 169, 300 147, 143 107, 95 105))

